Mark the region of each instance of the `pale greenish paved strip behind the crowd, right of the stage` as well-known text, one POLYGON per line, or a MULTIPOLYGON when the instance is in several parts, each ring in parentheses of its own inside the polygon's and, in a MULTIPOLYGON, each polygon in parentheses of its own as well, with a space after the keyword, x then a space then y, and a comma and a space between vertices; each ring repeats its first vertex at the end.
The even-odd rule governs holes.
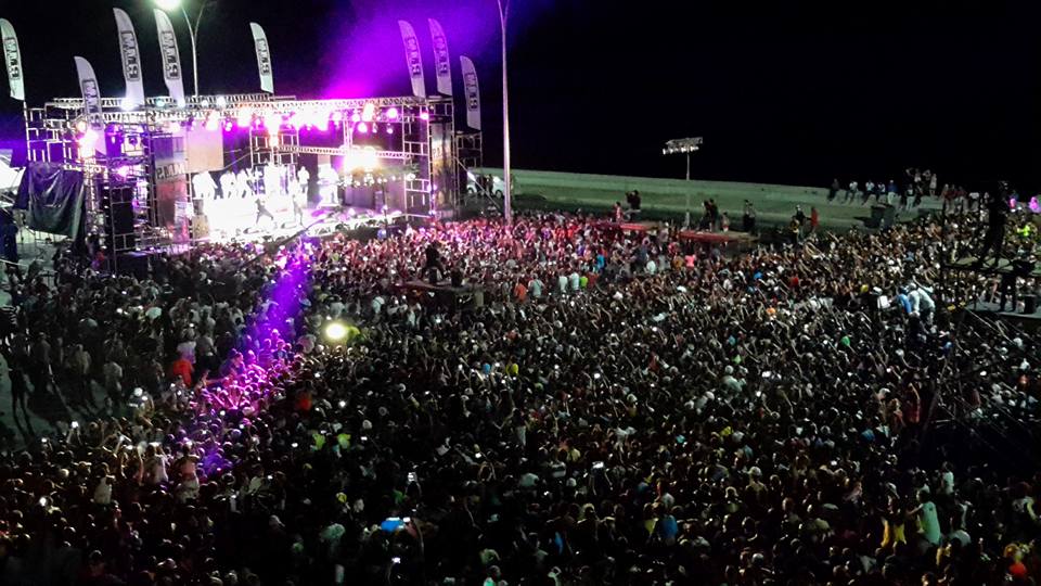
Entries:
MULTIPOLYGON (((477 169, 477 173, 502 175, 502 169, 477 169)), ((702 202, 715 199, 720 209, 730 215, 731 226, 741 225, 745 200, 756 206, 760 228, 785 225, 801 204, 807 215, 810 206, 820 212, 821 226, 844 230, 863 226, 871 216, 870 206, 843 204, 843 192, 835 202, 828 203, 826 187, 777 186, 769 183, 741 183, 734 181, 684 181, 682 179, 655 179, 647 177, 622 177, 613 175, 580 175, 571 173, 514 170, 515 205, 520 208, 576 208, 606 212, 615 202, 625 205, 625 194, 639 190, 643 200, 643 215, 682 218, 690 196, 691 216, 694 221, 702 215, 702 202)), ((925 209, 938 209, 936 200, 923 203, 925 209)), ((917 215, 905 212, 900 219, 917 215)))

